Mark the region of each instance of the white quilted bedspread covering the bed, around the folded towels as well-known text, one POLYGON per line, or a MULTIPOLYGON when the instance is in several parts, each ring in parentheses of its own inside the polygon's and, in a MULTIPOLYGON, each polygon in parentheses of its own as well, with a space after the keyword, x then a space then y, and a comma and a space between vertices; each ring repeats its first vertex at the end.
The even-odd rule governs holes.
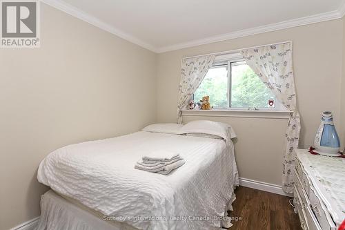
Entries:
POLYGON ((232 142, 148 132, 59 148, 41 162, 37 178, 137 229, 157 230, 219 229, 217 217, 239 183, 232 142), (179 153, 186 164, 170 175, 134 169, 143 155, 161 149, 179 153))

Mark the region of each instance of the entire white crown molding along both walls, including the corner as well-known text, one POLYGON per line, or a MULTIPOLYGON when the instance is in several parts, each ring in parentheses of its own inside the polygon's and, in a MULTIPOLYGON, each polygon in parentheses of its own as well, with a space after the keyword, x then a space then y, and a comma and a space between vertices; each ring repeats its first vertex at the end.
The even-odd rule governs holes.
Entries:
POLYGON ((93 26, 96 26, 98 28, 101 28, 102 30, 106 30, 113 35, 116 35, 117 37, 121 37, 122 39, 125 39, 127 41, 132 42, 133 44, 136 44, 138 46, 141 46, 143 48, 146 48, 152 52, 161 53, 161 52, 168 52, 172 50, 179 50, 182 48, 190 48, 193 46, 200 46, 204 44, 211 44, 218 41, 225 41, 228 39, 235 39, 239 37, 246 37, 250 35, 257 35, 262 34, 264 32, 272 32, 276 30, 283 30, 286 28, 293 28, 297 26, 305 26, 312 23, 318 23, 322 21, 330 21, 334 19, 340 19, 344 17, 345 15, 345 0, 343 0, 341 6, 337 10, 331 11, 331 12, 325 12, 318 15, 311 15, 308 17, 302 17, 298 19, 292 19, 288 21, 282 21, 279 23, 272 23, 268 24, 266 26, 259 26, 255 28, 248 28, 246 30, 238 30, 235 32, 229 32, 223 35, 216 35, 212 37, 206 37, 204 39, 196 39, 193 41, 188 41, 180 44, 175 44, 172 46, 163 46, 163 47, 155 47, 151 44, 146 43, 145 41, 142 41, 141 39, 138 39, 137 37, 133 37, 132 35, 128 35, 126 32, 123 32, 113 26, 110 26, 110 24, 105 23, 98 19, 97 17, 94 17, 87 12, 83 12, 82 10, 79 10, 79 8, 76 8, 74 6, 71 6, 70 4, 66 3, 62 0, 40 0, 43 3, 46 3, 49 6, 52 6, 54 8, 57 8, 63 12, 66 12, 68 15, 72 15, 74 17, 77 17, 78 19, 81 19, 83 21, 86 21, 93 26))

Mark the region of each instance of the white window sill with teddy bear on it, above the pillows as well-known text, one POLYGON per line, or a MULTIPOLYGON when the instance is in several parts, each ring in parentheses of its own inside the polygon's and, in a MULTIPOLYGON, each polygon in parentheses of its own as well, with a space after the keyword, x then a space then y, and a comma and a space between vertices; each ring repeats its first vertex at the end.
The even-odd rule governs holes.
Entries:
POLYGON ((213 109, 204 110, 181 110, 183 116, 200 117, 249 117, 249 118, 268 118, 268 119, 289 119, 292 111, 246 111, 236 109, 213 109))

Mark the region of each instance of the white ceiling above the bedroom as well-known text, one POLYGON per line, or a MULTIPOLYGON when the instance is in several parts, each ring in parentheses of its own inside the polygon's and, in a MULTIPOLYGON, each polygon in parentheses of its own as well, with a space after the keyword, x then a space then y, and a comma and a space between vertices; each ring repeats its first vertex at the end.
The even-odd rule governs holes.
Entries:
POLYGON ((156 52, 326 21, 342 17, 345 11, 344 0, 43 2, 156 52))

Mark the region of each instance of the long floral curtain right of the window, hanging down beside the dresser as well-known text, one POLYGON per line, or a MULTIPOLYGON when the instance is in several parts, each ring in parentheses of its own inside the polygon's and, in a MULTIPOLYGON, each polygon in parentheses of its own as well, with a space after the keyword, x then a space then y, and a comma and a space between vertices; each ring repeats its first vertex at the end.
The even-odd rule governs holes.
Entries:
POLYGON ((292 44, 290 42, 250 48, 241 51, 246 63, 272 90, 275 97, 293 113, 286 129, 286 149, 283 160, 282 188, 293 193, 293 169, 295 150, 301 128, 296 107, 295 82, 293 78, 292 44))

